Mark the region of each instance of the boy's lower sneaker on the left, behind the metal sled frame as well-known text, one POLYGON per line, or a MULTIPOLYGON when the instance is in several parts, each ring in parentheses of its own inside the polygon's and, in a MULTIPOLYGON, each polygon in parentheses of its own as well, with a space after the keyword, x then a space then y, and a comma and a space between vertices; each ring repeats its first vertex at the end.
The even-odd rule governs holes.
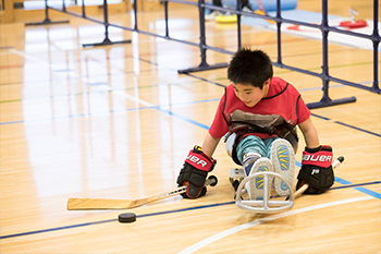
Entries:
MULTIPOLYGON (((259 158, 250 169, 249 174, 256 172, 263 172, 263 171, 273 171, 271 160, 268 158, 259 158)), ((246 172, 246 170, 245 170, 246 172)), ((268 184, 269 184, 269 194, 271 191, 272 185, 272 178, 268 178, 268 184)), ((263 177, 257 177, 250 181, 248 181, 245 185, 245 189, 247 190, 248 196, 251 201, 262 201, 263 199, 263 193, 265 193, 265 179, 263 177)))

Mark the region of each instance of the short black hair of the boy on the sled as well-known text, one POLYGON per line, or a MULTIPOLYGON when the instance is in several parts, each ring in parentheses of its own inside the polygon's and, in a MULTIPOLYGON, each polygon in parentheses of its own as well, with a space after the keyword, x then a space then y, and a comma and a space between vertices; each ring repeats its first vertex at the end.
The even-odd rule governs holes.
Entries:
POLYGON ((273 75, 269 56, 262 50, 238 50, 228 68, 228 78, 236 84, 263 88, 263 83, 273 75))

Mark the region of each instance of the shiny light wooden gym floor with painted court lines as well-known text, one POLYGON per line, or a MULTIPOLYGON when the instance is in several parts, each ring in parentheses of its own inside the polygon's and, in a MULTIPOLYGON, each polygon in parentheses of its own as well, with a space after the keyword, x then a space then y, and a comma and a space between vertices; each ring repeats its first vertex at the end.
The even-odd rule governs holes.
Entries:
MULTIPOLYGON (((319 11, 315 2, 300 0, 298 8, 319 11)), ((372 1, 335 2, 331 14, 345 16, 343 10, 357 4, 361 17, 371 19, 372 1)), ((170 12, 171 35, 198 43, 195 16, 192 8, 170 12)), ((140 29, 164 32, 161 12, 138 17, 140 29)), ((219 184, 202 198, 66 210, 70 197, 136 199, 176 189, 185 156, 202 142, 230 84, 225 69, 177 75, 199 64, 197 47, 112 28, 111 39, 133 43, 83 48, 103 39, 102 26, 67 19, 51 26, 0 24, 1 253, 381 252, 381 97, 336 83, 332 99, 357 101, 314 109, 312 120, 321 143, 345 161, 332 190, 304 195, 286 213, 258 215, 233 203, 229 169, 236 166, 223 144, 212 172, 219 184), (123 211, 137 220, 118 222, 123 211)), ((128 13, 110 19, 131 27, 128 13)), ((207 32, 209 45, 236 50, 235 25, 211 22, 207 32)), ((244 26, 243 46, 276 59, 273 32, 244 26)), ((320 72, 321 41, 283 35, 282 49, 285 63, 320 72)), ((371 51, 334 44, 329 50, 331 75, 371 84, 371 51)), ((208 51, 210 64, 230 59, 208 51)), ((306 102, 320 100, 319 78, 274 71, 306 102)), ((298 161, 303 147, 302 140, 298 161)))

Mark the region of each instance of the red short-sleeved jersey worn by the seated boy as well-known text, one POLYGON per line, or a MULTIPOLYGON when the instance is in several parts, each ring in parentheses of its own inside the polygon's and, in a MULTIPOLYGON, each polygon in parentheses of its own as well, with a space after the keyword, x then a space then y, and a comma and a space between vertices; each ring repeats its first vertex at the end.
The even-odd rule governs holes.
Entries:
POLYGON ((266 130, 283 122, 295 126, 306 121, 310 114, 297 89, 280 77, 271 80, 267 97, 254 107, 247 107, 238 99, 231 84, 225 88, 225 94, 220 100, 209 133, 220 138, 247 123, 261 130, 256 129, 258 132, 250 132, 250 134, 268 138, 275 134, 268 133, 266 130))

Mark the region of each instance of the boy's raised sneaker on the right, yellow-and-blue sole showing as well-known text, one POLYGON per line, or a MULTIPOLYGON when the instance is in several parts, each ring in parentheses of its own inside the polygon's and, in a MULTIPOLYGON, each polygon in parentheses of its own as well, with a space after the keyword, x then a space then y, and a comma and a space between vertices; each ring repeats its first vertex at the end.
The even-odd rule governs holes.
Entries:
MULTIPOLYGON (((271 161, 274 171, 284 177, 294 188, 295 176, 295 153, 290 142, 279 138, 271 146, 271 161)), ((274 189, 278 195, 290 195, 288 186, 281 179, 274 179, 274 189)))

